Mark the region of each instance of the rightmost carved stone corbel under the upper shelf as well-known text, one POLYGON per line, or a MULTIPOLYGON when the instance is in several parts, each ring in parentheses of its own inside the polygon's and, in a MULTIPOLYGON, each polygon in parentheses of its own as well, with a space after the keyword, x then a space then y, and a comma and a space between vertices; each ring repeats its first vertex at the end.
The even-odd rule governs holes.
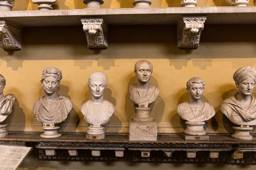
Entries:
POLYGON ((183 17, 177 26, 179 48, 198 48, 206 17, 183 17))

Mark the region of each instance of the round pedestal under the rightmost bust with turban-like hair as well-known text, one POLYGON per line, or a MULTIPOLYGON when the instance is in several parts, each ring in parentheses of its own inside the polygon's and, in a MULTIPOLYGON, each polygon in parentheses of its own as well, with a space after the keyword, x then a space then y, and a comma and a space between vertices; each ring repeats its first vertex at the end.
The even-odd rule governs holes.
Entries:
POLYGON ((250 130, 252 130, 253 127, 250 127, 249 125, 241 125, 233 126, 233 129, 235 129, 235 133, 231 135, 232 138, 241 140, 253 139, 253 136, 250 135, 250 130))

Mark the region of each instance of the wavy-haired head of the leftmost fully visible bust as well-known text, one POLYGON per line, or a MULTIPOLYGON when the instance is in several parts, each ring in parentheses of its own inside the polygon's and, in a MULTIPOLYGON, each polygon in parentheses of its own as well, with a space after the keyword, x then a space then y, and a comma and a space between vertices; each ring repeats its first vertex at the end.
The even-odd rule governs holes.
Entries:
POLYGON ((44 68, 41 85, 46 94, 54 94, 61 83, 62 73, 58 68, 47 67, 44 68))

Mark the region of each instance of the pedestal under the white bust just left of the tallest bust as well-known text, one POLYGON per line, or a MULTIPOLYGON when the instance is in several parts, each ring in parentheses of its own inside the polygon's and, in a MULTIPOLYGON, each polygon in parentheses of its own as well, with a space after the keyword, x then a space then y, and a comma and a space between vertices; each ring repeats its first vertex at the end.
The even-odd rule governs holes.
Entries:
POLYGON ((86 139, 105 139, 105 137, 104 127, 101 125, 88 126, 86 139))

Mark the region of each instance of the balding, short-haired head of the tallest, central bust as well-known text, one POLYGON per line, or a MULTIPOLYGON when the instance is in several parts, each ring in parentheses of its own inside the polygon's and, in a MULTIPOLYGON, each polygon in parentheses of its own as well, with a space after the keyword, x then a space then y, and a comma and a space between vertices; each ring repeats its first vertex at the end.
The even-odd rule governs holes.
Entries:
POLYGON ((148 82, 153 72, 153 65, 147 60, 140 60, 134 65, 134 73, 139 82, 148 82))

